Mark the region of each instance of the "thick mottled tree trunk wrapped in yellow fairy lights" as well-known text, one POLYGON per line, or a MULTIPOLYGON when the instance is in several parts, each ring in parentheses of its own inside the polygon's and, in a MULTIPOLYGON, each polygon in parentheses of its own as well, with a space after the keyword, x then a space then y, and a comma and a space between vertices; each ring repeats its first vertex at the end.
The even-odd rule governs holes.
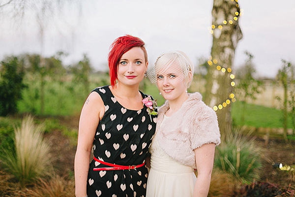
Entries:
MULTIPOLYGON (((214 0, 212 9, 212 60, 208 61, 207 89, 205 102, 213 107, 223 104, 233 93, 230 72, 234 62, 235 50, 242 33, 238 25, 240 8, 237 0, 214 0), (236 17, 236 18, 235 18, 236 17), (214 27, 215 26, 215 27, 214 27), (216 62, 217 61, 217 62, 216 62), (217 66, 225 69, 216 69, 217 66), (229 69, 230 68, 230 69, 229 69), (224 72, 223 72, 223 71, 224 72)), ((221 134, 231 131, 231 105, 217 110, 221 134)))

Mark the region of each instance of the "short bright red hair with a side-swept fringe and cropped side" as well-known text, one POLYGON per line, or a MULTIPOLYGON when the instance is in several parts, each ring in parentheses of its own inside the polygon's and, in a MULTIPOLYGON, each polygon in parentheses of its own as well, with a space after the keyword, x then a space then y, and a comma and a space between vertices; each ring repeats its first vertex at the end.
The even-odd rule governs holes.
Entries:
POLYGON ((124 53, 129 51, 133 47, 141 47, 145 54, 145 61, 148 62, 148 53, 146 48, 144 47, 145 42, 135 36, 132 35, 124 35, 118 37, 110 46, 110 52, 108 56, 108 63, 110 68, 110 78, 112 87, 116 86, 117 68, 120 61, 120 58, 124 53))

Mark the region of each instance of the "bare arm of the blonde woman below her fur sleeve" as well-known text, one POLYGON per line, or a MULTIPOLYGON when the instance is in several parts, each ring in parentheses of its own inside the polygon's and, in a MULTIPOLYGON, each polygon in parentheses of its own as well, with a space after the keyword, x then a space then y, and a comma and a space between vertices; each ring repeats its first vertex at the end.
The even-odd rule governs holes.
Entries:
POLYGON ((198 169, 194 197, 207 197, 214 163, 215 144, 204 144, 194 151, 198 169))

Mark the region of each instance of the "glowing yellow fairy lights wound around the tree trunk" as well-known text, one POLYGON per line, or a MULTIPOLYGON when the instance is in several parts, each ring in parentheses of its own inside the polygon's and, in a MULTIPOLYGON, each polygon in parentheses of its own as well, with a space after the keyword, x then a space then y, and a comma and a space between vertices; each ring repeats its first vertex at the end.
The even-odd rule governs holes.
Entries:
MULTIPOLYGON (((239 7, 238 0, 231 0, 231 1, 236 1, 236 7, 239 7)), ((216 28, 218 28, 219 30, 222 30, 225 25, 233 25, 235 23, 235 21, 238 20, 238 17, 242 16, 243 14, 244 14, 243 9, 240 9, 239 12, 237 12, 237 11, 235 12, 235 15, 232 20, 228 20, 228 21, 224 20, 222 22, 223 24, 212 24, 211 27, 208 27, 209 33, 213 34, 214 30, 216 28)), ((219 66, 217 59, 213 59, 211 56, 209 56, 207 63, 209 66, 216 65, 216 69, 220 70, 223 73, 225 73, 225 72, 231 73, 232 72, 231 68, 225 68, 225 67, 219 66)), ((232 74, 232 73, 230 74, 232 87, 234 87, 236 85, 236 83, 233 81, 233 79, 235 79, 235 77, 236 76, 234 74, 232 74)), ((229 95, 229 98, 226 99, 223 103, 214 105, 213 110, 214 111, 221 110, 224 107, 226 107, 227 105, 229 105, 231 102, 235 102, 235 101, 236 101, 235 94, 231 93, 229 95)))

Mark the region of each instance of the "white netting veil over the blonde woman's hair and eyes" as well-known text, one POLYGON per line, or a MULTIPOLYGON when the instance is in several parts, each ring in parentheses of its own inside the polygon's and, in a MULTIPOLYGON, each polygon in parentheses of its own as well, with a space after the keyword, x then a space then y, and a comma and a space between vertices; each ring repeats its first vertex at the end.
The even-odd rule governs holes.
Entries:
POLYGON ((161 54, 154 66, 148 67, 147 76, 152 83, 165 78, 182 81, 187 78, 189 71, 194 73, 189 57, 181 51, 170 51, 161 54))

